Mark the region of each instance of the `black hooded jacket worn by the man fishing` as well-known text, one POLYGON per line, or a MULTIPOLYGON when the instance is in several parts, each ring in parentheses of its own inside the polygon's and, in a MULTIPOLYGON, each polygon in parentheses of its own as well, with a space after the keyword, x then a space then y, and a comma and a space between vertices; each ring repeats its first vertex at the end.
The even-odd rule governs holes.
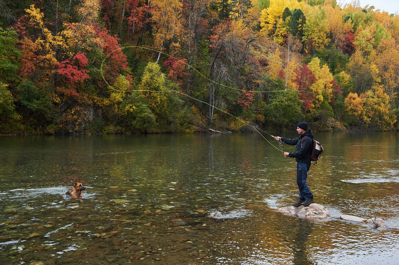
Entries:
POLYGON ((310 165, 310 154, 313 148, 313 133, 311 130, 302 133, 295 139, 281 137, 281 141, 289 145, 296 145, 295 152, 290 153, 288 155, 289 157, 295 157, 296 162, 310 165), (302 142, 302 138, 305 136, 308 137, 306 137, 302 142))

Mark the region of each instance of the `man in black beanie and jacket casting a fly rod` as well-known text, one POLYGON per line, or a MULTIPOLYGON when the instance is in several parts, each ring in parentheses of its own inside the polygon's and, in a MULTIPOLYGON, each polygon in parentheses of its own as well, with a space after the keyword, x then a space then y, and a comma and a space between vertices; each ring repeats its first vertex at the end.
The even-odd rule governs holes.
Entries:
POLYGON ((313 194, 306 184, 307 173, 310 169, 310 154, 313 148, 313 133, 311 130, 308 130, 308 124, 306 122, 298 123, 296 131, 299 133, 299 137, 295 139, 288 139, 280 136, 275 136, 274 138, 277 141, 282 141, 289 145, 296 145, 295 152, 284 152, 284 157, 295 157, 297 162, 296 183, 298 184, 299 198, 293 205, 298 207, 300 205, 308 206, 314 203, 313 194))

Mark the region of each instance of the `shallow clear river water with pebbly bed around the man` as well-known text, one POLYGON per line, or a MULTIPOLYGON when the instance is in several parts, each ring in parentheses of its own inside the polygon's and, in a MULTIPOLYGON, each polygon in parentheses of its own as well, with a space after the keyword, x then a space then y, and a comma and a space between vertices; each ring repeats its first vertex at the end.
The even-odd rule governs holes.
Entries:
POLYGON ((0 264, 397 264, 398 134, 316 137, 322 222, 273 209, 296 164, 257 134, 1 137, 0 264), (78 178, 83 199, 63 198, 78 178))

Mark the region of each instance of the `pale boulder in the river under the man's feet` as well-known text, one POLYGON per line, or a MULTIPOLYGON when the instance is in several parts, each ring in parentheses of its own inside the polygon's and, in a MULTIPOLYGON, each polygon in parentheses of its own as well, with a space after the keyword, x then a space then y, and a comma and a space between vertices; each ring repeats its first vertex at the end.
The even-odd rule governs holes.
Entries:
POLYGON ((330 213, 326 208, 317 203, 312 203, 309 206, 286 206, 278 209, 280 212, 298 216, 300 218, 326 219, 330 217, 330 213))

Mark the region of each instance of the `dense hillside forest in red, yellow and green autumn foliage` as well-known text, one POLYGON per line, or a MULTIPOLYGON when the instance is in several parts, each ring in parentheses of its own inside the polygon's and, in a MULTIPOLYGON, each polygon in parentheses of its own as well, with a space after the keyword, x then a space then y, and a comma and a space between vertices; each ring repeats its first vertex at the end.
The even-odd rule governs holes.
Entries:
POLYGON ((373 6, 5 0, 0 25, 0 133, 399 129, 399 16, 373 6))

